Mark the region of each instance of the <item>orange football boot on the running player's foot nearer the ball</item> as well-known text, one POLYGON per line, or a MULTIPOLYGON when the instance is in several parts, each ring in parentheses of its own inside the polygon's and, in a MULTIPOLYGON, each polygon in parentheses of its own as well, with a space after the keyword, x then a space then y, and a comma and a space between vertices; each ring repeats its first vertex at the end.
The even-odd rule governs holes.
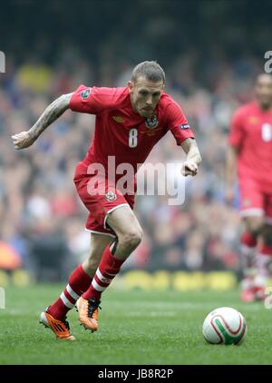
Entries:
POLYGON ((96 331, 98 326, 98 308, 101 309, 100 300, 84 300, 81 297, 77 300, 75 309, 78 311, 78 319, 84 329, 96 331))

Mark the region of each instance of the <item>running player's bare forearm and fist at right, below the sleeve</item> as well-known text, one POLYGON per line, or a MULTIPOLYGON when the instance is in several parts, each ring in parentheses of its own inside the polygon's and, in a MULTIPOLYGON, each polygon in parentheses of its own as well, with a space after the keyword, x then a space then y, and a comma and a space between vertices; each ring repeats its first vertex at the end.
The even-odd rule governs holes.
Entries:
POLYGON ((201 156, 197 142, 194 138, 187 138, 180 143, 181 148, 186 152, 186 160, 183 162, 182 174, 197 175, 199 172, 199 164, 201 162, 201 156))

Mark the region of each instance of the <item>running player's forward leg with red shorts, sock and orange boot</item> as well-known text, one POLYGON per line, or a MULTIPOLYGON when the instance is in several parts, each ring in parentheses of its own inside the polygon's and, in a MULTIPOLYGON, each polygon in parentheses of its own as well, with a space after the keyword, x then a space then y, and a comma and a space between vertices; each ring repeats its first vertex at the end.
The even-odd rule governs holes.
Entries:
POLYGON ((90 211, 86 228, 116 236, 116 241, 103 251, 90 288, 76 304, 84 328, 96 330, 101 293, 119 272, 126 257, 140 243, 141 227, 131 210, 133 195, 124 197, 112 180, 93 176, 90 180, 86 178, 75 183, 80 198, 90 211), (100 185, 98 190, 93 189, 96 184, 100 185), (115 253, 119 258, 115 257, 115 253))

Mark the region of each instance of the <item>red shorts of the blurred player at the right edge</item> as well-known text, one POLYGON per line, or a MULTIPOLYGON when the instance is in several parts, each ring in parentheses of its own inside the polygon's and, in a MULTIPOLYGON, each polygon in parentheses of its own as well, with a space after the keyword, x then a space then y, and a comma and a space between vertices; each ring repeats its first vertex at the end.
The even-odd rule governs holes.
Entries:
POLYGON ((242 217, 264 216, 267 223, 272 223, 272 191, 262 191, 261 183, 252 178, 240 178, 239 190, 242 217))

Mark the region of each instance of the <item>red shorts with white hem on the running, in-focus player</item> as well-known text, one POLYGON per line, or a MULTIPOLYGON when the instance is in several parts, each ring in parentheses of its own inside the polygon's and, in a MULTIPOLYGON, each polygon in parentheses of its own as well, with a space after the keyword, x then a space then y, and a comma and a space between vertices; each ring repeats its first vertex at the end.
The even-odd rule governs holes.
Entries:
POLYGON ((135 195, 122 194, 115 183, 108 179, 102 180, 96 175, 80 175, 73 179, 76 190, 89 211, 86 230, 105 233, 116 237, 107 225, 108 214, 121 206, 133 209, 135 195))

